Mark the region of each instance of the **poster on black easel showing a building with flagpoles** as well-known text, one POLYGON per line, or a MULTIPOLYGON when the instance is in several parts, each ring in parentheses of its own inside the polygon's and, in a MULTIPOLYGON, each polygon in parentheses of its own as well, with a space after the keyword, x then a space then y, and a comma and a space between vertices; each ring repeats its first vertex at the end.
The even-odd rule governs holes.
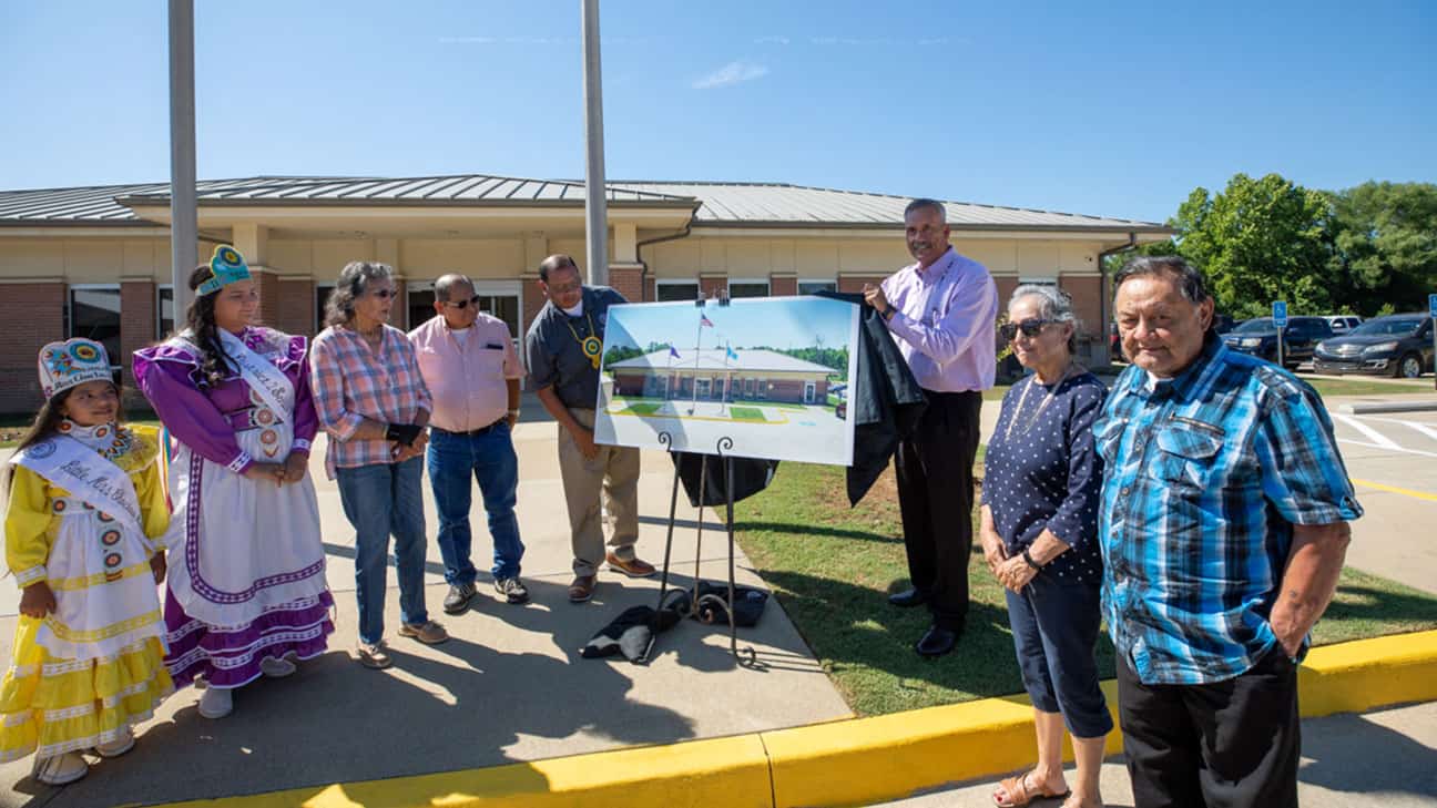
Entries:
POLYGON ((856 348, 858 306, 826 298, 614 306, 595 440, 848 466, 856 348))

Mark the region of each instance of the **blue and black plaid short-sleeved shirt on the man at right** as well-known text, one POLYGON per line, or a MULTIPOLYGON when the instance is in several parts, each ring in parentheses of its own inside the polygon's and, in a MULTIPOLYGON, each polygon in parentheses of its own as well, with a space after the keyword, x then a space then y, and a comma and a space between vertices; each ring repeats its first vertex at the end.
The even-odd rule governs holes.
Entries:
POLYGON ((1318 392, 1213 339, 1175 378, 1124 371, 1094 437, 1104 615, 1148 684, 1256 664, 1292 526, 1362 515, 1318 392))

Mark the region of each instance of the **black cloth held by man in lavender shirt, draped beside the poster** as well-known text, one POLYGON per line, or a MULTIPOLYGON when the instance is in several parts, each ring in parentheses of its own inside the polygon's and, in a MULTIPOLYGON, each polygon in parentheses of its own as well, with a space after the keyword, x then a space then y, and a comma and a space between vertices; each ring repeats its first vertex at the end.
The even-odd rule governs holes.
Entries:
POLYGON ((865 303, 861 293, 819 292, 818 296, 859 306, 858 380, 849 380, 848 385, 848 417, 854 420, 848 503, 858 505, 888 467, 898 441, 918 426, 928 403, 878 309, 865 303))

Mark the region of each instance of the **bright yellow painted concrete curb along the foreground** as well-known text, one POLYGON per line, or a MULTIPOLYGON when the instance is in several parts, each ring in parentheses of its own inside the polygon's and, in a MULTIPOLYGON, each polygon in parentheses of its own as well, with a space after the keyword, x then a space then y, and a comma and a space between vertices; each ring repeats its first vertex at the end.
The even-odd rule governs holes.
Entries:
MULTIPOLYGON (((1305 717, 1437 700, 1437 631, 1315 648, 1305 717)), ((1117 713, 1115 683, 1105 681, 1117 713)), ((1117 717, 1117 715, 1115 715, 1117 717)), ((1108 753, 1122 736, 1108 736, 1108 753)), ((1071 755, 1071 750, 1069 750, 1071 755)), ((434 775, 296 788, 168 808, 805 808, 868 805, 1032 765, 1026 697, 434 775)))

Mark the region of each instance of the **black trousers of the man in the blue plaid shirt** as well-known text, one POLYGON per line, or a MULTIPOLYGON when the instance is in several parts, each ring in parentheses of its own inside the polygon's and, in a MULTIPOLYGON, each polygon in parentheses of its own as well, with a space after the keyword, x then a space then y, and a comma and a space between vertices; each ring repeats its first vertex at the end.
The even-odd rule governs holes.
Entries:
POLYGON ((1298 805, 1298 666, 1280 647, 1214 684, 1142 684, 1122 658, 1118 719, 1135 808, 1298 805))

